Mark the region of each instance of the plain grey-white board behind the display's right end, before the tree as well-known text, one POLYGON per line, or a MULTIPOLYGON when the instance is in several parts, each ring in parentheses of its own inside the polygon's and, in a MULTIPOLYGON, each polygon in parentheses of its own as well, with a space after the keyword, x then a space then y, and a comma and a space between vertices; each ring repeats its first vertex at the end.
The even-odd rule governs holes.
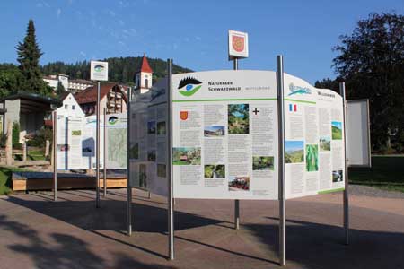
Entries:
POLYGON ((347 101, 347 163, 371 166, 369 101, 347 101))

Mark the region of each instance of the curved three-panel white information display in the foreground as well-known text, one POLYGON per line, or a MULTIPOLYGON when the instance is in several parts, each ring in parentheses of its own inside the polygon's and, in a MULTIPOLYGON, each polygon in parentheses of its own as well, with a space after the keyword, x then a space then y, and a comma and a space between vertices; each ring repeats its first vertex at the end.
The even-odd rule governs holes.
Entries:
MULTIPOLYGON (((285 74, 286 198, 343 190, 343 100, 285 74)), ((130 184, 173 197, 278 198, 277 78, 270 71, 175 74, 131 103, 130 184)))

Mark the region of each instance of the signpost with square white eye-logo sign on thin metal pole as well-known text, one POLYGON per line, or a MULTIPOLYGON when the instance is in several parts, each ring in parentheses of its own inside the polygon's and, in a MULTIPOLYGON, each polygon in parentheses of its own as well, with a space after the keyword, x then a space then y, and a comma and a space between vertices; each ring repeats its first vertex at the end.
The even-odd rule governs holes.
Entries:
POLYGON ((108 81, 108 62, 91 61, 90 78, 97 81, 97 131, 96 131, 96 202, 95 206, 100 207, 100 82, 108 81))

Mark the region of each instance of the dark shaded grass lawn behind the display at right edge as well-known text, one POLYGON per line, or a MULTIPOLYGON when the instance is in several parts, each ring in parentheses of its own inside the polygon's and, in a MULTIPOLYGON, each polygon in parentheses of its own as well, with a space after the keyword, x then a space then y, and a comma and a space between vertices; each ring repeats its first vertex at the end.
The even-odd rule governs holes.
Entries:
POLYGON ((404 155, 372 156, 372 168, 350 168, 349 183, 404 192, 404 155))

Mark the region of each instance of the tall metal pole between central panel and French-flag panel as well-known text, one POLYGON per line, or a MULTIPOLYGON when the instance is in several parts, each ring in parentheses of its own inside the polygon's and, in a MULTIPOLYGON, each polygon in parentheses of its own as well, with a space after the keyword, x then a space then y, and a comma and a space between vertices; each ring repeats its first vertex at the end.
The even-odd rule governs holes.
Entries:
POLYGON ((284 58, 277 56, 277 126, 278 126, 278 182, 279 182, 279 265, 286 262, 285 227, 285 104, 284 58))

